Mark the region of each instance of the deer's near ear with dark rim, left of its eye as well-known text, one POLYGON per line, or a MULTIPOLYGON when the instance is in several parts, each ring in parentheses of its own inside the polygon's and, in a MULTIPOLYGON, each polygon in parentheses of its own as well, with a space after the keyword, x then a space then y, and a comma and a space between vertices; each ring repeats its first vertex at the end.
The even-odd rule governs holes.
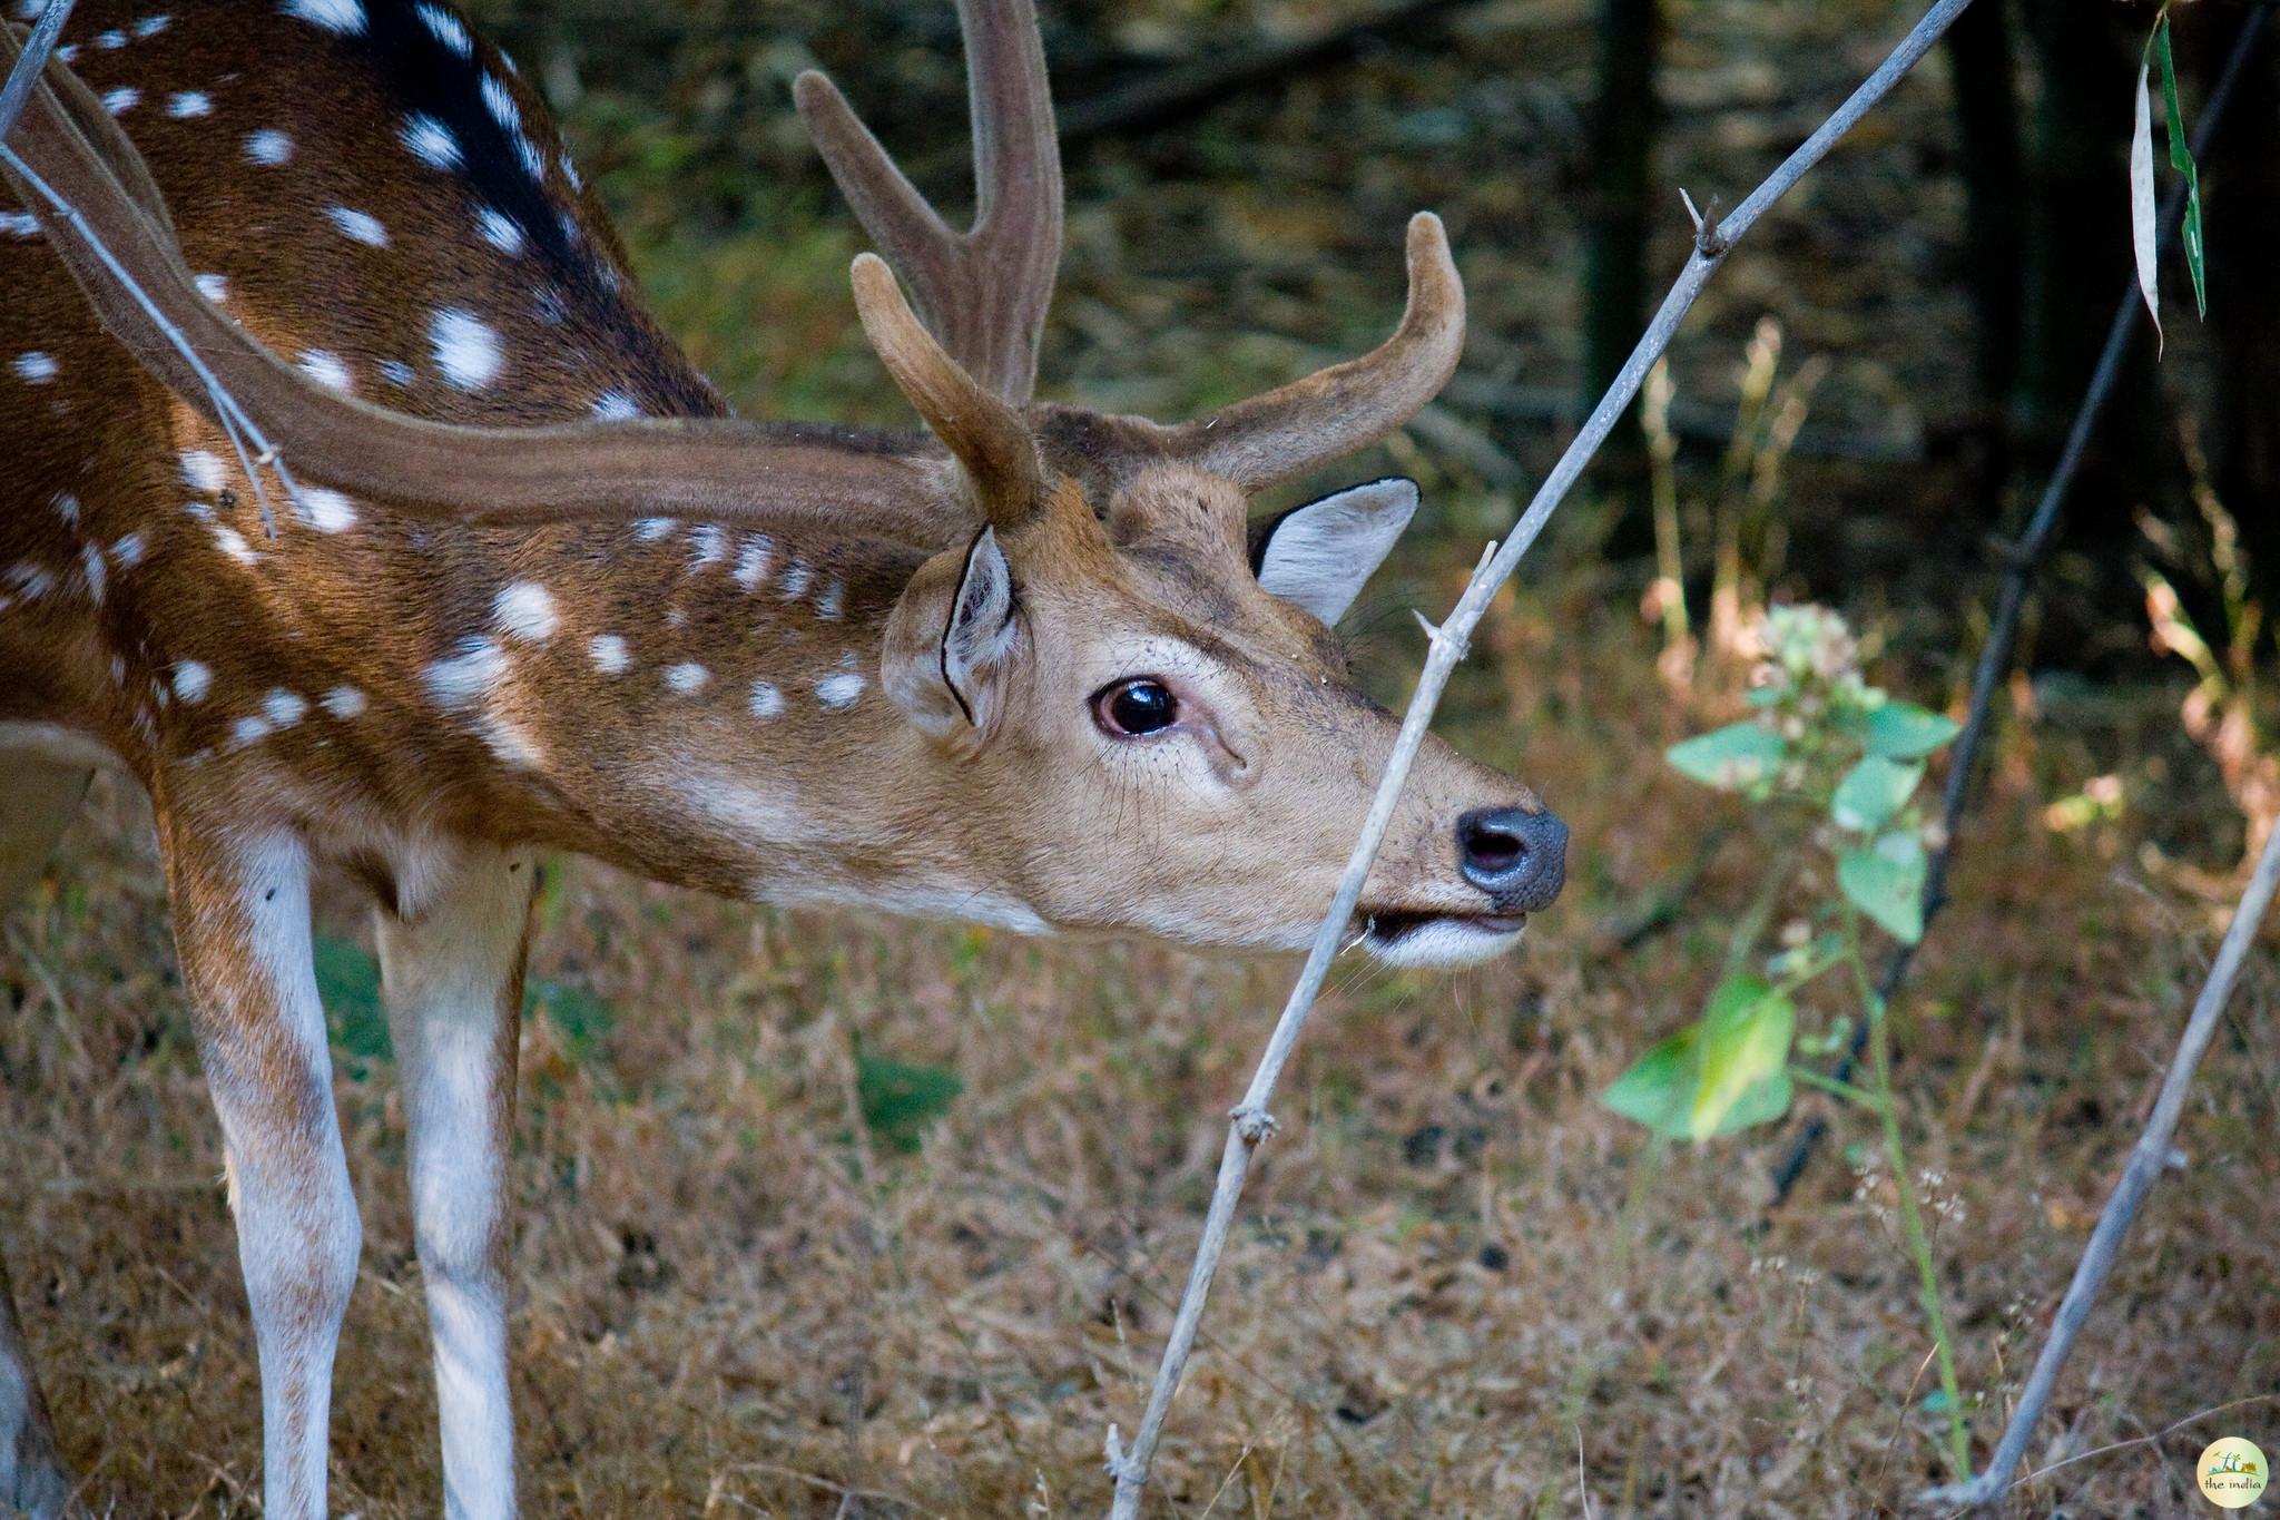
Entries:
POLYGON ((935 738, 987 734, 1003 706, 1021 624, 1012 565, 983 529, 919 567, 887 620, 887 695, 935 738))

